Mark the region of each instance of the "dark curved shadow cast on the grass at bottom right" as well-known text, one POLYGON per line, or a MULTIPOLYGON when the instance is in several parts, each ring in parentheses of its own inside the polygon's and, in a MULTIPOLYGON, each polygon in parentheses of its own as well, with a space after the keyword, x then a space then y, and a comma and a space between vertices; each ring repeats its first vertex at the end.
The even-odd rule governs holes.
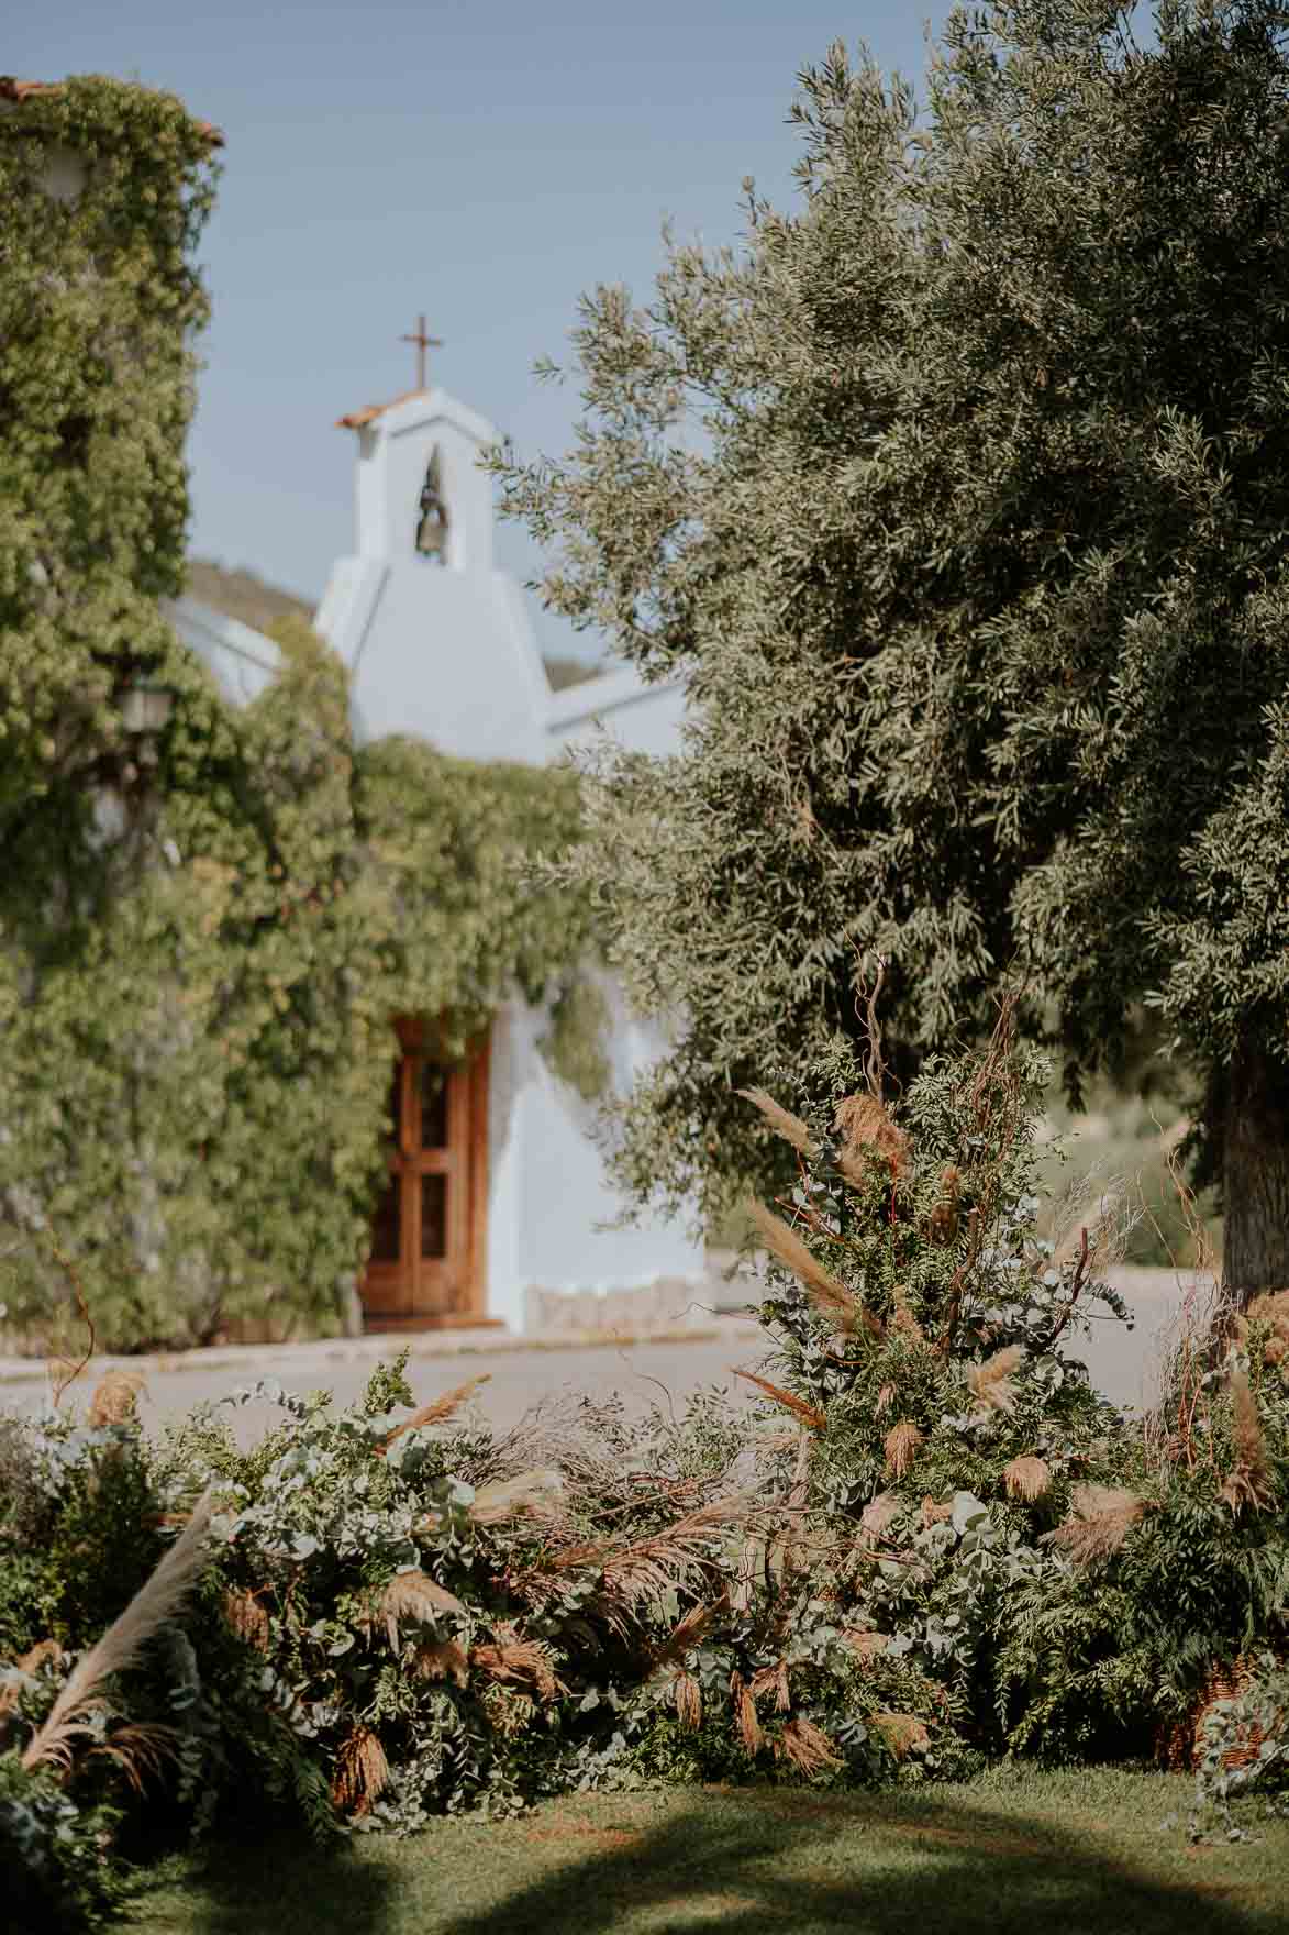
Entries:
MULTIPOLYGON (((646 1832, 583 1827, 571 1860, 434 1935, 1270 1935, 1275 1910, 1241 1908, 1227 1881, 1169 1883, 1051 1821, 919 1800, 695 1796, 646 1832), (583 1838, 585 1854, 577 1850, 583 1838)), ((1107 1823, 1107 1827, 1111 1827, 1107 1823)), ((1111 1829, 1113 1831, 1113 1829, 1111 1829)), ((559 1827, 542 1829, 552 1840, 559 1827)), ((1109 1838, 1109 1836, 1107 1836, 1109 1838)), ((1184 1860, 1177 1840, 1167 1844, 1184 1860)), ((1167 1858, 1165 1846, 1161 1856, 1167 1858)), ((1252 1894, 1252 1890, 1248 1890, 1252 1894)), ((223 1935, 223 1931, 221 1931, 223 1935)))

